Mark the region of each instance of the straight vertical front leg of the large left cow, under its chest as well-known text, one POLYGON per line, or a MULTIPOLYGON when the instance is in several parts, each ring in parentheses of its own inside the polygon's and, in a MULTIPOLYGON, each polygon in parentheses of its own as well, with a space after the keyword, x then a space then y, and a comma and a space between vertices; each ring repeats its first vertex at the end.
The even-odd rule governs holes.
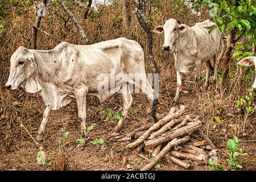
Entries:
POLYGON ((77 97, 77 108, 78 108, 78 117, 81 122, 81 135, 82 137, 86 136, 86 95, 77 97))

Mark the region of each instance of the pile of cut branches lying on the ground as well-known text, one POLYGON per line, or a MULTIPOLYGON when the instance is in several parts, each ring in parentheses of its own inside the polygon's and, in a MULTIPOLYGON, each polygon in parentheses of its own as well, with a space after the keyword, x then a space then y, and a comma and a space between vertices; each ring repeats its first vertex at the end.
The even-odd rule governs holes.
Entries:
POLYGON ((157 123, 147 123, 125 137, 115 138, 114 141, 121 142, 136 139, 134 142, 127 144, 126 148, 133 148, 138 153, 144 150, 153 159, 141 170, 154 168, 166 154, 169 154, 171 162, 185 169, 191 166, 185 160, 207 164, 208 155, 206 150, 213 150, 213 143, 199 130, 202 126, 199 116, 193 119, 190 115, 186 115, 182 118, 185 111, 186 106, 184 105, 180 109, 171 107, 169 114, 157 123), (201 137, 205 140, 198 141, 191 138, 191 134, 194 134, 195 131, 201 132, 201 137))

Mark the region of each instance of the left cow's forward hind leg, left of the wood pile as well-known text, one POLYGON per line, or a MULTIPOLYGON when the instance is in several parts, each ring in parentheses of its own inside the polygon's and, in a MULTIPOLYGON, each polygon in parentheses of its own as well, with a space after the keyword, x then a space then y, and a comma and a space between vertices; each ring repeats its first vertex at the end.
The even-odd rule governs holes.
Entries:
POLYGON ((114 128, 114 132, 118 133, 122 127, 123 127, 123 122, 125 121, 125 118, 127 116, 128 110, 131 106, 131 103, 133 102, 133 96, 131 96, 131 92, 129 89, 129 84, 125 83, 122 85, 121 88, 121 96, 123 98, 123 111, 122 111, 122 118, 119 119, 117 126, 114 128))

